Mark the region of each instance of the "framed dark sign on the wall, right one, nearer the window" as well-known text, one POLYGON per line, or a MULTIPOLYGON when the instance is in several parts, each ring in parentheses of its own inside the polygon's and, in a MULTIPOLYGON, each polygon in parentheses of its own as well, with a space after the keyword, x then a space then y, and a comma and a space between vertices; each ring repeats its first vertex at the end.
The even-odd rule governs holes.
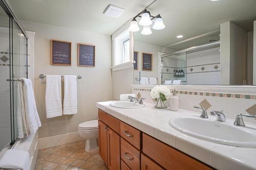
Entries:
POLYGON ((77 65, 81 67, 95 67, 95 51, 95 45, 93 44, 78 43, 77 65))

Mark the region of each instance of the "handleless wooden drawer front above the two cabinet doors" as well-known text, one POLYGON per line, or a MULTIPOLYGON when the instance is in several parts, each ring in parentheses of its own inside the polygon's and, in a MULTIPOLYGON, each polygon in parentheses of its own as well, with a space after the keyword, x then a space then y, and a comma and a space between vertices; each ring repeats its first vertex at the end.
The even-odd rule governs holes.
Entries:
POLYGON ((120 135, 120 120, 100 109, 99 119, 120 135))

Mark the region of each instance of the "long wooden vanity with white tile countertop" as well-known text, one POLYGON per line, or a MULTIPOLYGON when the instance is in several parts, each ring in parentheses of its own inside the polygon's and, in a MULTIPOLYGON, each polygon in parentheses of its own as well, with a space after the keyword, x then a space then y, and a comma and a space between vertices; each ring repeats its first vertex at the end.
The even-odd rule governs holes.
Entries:
MULTIPOLYGON (((114 108, 110 104, 111 102, 97 103, 99 155, 109 169, 255 169, 256 167, 253 161, 256 148, 236 147, 202 140, 180 133, 169 125, 170 119, 185 116, 200 120, 200 113, 156 109, 151 103, 145 103, 145 107, 138 109, 114 108)), ((217 120, 215 116, 209 115, 209 119, 205 121, 217 120)), ((227 123, 216 122, 217 124, 222 126, 227 123)))

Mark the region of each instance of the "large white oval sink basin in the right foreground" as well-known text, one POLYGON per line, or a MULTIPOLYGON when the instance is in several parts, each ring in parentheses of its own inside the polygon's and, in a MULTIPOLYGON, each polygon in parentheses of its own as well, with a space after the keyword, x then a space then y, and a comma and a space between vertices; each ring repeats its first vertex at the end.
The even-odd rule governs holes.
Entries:
POLYGON ((169 125, 181 133, 210 142, 256 148, 256 129, 234 126, 230 120, 219 122, 216 117, 177 117, 170 119, 169 125))

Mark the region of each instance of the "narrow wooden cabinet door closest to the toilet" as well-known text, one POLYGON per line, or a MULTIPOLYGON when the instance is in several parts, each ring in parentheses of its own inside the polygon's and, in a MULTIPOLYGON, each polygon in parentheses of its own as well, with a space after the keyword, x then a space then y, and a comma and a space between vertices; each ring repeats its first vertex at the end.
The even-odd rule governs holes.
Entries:
POLYGON ((107 130, 108 127, 98 120, 99 124, 99 155, 103 159, 106 165, 108 165, 108 136, 107 130))

